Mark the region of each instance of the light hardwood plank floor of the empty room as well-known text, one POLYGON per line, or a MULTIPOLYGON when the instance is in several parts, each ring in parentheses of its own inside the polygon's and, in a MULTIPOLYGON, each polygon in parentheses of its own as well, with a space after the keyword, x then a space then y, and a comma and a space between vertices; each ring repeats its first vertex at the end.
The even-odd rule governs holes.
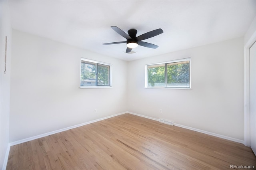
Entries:
POLYGON ((124 114, 12 146, 7 170, 223 170, 253 165, 249 147, 124 114))

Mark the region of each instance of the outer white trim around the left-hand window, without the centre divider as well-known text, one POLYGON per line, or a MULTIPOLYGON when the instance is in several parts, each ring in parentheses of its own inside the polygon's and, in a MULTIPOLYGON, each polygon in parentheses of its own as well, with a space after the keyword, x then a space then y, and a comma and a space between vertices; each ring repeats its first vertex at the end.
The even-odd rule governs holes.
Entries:
POLYGON ((81 61, 87 61, 87 62, 91 62, 91 63, 98 63, 98 64, 104 64, 104 65, 109 65, 109 86, 81 86, 80 85, 80 89, 105 89, 105 88, 112 88, 112 64, 110 63, 104 63, 101 61, 96 61, 96 60, 92 60, 92 59, 86 59, 86 58, 81 58, 80 60, 80 82, 81 83, 81 61))

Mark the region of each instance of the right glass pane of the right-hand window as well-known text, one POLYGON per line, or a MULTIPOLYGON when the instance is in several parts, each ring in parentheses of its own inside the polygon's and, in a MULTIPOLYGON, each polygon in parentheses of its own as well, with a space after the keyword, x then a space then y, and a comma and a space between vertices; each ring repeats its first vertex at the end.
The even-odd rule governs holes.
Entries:
POLYGON ((190 87, 189 61, 167 64, 167 87, 190 87))

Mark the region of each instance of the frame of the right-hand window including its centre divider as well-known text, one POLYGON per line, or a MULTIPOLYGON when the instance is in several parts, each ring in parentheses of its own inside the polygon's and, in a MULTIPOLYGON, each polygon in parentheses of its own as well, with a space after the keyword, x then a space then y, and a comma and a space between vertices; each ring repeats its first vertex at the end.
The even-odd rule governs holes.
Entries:
POLYGON ((176 60, 171 60, 171 61, 164 61, 164 62, 160 62, 160 63, 152 63, 152 64, 146 64, 145 65, 145 88, 146 89, 184 89, 184 90, 190 90, 191 89, 191 58, 184 58, 184 59, 176 59, 176 60), (189 61, 189 87, 168 87, 167 86, 167 65, 169 63, 177 63, 177 62, 182 62, 182 61, 189 61), (160 65, 160 64, 164 64, 164 69, 165 69, 165 73, 164 73, 164 83, 165 86, 156 86, 156 87, 148 87, 148 66, 149 65, 160 65))

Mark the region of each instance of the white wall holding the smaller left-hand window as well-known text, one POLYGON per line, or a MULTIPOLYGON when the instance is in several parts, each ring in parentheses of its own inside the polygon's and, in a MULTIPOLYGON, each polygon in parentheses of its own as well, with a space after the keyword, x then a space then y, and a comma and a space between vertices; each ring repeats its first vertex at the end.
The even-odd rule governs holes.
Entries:
POLYGON ((10 142, 127 111, 126 77, 126 61, 13 30, 10 142), (80 89, 81 57, 111 63, 112 88, 80 89))

